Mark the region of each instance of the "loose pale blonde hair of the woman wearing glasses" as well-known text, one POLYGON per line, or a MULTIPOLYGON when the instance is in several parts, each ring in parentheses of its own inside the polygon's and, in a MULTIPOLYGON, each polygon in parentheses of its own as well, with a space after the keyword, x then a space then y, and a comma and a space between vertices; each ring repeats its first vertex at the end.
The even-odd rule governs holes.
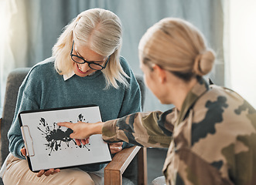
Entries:
POLYGON ((87 45, 99 55, 110 56, 106 69, 102 70, 106 79, 106 88, 114 86, 118 89, 118 82, 128 86, 125 79, 128 75, 123 71, 119 59, 121 34, 121 21, 113 12, 101 8, 81 12, 64 28, 64 32, 53 46, 56 71, 60 75, 72 72, 73 61, 70 59, 70 50, 74 40, 80 45, 87 45))

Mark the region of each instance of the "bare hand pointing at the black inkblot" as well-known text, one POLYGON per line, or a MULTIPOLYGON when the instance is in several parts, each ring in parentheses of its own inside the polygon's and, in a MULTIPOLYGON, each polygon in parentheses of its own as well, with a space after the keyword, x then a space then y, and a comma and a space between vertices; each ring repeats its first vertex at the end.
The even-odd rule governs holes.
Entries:
POLYGON ((103 126, 103 123, 84 123, 84 122, 78 122, 78 123, 70 123, 70 122, 63 122, 58 123, 58 126, 66 126, 67 128, 70 128, 73 130, 73 133, 70 134, 70 138, 77 139, 76 142, 86 144, 86 139, 89 138, 89 136, 93 134, 101 134, 101 129, 103 126))

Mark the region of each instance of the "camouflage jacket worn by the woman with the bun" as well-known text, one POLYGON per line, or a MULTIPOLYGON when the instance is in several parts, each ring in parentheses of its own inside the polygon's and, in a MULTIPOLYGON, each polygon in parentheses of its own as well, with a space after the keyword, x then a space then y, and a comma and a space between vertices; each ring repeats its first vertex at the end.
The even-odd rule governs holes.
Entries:
POLYGON ((180 111, 135 113, 104 124, 103 139, 169 147, 167 184, 256 184, 256 111, 199 79, 180 111))

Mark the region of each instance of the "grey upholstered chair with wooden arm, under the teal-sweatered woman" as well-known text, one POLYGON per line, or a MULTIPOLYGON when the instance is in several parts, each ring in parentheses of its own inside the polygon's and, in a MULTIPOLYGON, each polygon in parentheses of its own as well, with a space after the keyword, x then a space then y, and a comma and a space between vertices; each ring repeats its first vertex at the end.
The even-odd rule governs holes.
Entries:
MULTIPOLYGON (((0 126, 1 126, 1 159, 2 163, 5 160, 6 156, 9 154, 9 140, 7 139, 7 133, 9 127, 12 124, 12 118, 15 112, 16 99, 19 91, 19 86, 21 85, 23 79, 26 74, 29 72, 29 68, 19 68, 14 69, 10 72, 9 77, 6 83, 6 91, 5 91, 5 102, 2 112, 2 118, 0 118, 0 126)), ((142 93, 145 92, 145 87, 143 83, 143 79, 141 76, 136 76, 138 83, 142 89, 142 93)), ((144 94, 143 102, 144 102, 144 94)), ((140 146, 132 146, 130 148, 126 148, 121 150, 121 152, 115 154, 111 163, 108 163, 107 167, 104 170, 104 184, 115 185, 122 184, 122 175, 127 169, 128 165, 131 161, 138 157, 138 184, 147 184, 147 154, 146 149, 140 146)), ((2 165, 1 163, 1 165, 2 165)), ((2 179, 0 179, 2 181, 2 179)), ((0 181, 0 184, 3 184, 0 181)))

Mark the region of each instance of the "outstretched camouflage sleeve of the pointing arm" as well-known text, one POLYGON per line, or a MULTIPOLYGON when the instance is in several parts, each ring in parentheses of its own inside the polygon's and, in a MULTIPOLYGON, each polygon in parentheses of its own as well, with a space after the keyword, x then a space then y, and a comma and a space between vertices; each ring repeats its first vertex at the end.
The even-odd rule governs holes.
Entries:
POLYGON ((104 123, 103 140, 107 142, 125 141, 145 147, 169 147, 172 140, 174 117, 172 110, 162 113, 134 113, 120 119, 104 123), (168 120, 168 121, 167 121, 168 120))

